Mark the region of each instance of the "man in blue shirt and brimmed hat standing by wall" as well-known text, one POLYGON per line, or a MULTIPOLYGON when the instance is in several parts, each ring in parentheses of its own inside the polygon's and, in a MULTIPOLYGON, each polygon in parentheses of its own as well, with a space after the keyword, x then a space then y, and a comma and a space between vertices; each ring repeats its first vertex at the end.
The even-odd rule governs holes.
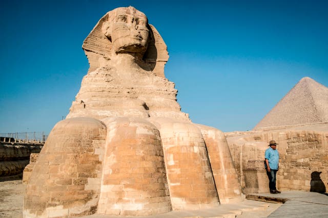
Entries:
POLYGON ((265 169, 269 178, 270 193, 281 193, 276 188, 277 171, 279 169, 279 153, 276 150, 277 143, 275 140, 269 142, 270 148, 265 151, 265 169))

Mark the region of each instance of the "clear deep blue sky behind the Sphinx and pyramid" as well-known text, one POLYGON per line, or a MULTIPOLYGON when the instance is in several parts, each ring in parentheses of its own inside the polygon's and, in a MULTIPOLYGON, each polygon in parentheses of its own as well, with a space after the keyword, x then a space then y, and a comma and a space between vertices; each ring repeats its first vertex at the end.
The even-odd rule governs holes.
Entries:
POLYGON ((130 5, 166 42, 166 77, 194 123, 251 130, 301 78, 328 86, 328 1, 4 0, 0 133, 49 133, 87 74, 83 40, 130 5))

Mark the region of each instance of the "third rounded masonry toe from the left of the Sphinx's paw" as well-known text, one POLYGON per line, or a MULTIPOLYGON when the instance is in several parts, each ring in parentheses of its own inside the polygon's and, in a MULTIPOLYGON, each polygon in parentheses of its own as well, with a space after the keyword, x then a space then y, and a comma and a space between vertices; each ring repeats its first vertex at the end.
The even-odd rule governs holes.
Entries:
POLYGON ((191 123, 152 119, 162 139, 173 210, 218 205, 204 139, 191 123))

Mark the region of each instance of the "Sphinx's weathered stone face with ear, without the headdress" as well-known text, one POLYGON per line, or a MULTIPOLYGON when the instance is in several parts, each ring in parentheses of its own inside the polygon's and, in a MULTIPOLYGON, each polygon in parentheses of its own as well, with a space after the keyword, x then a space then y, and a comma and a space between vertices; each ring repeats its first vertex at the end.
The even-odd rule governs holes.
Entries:
POLYGON ((141 53, 147 50, 149 26, 147 16, 134 7, 117 8, 108 14, 103 33, 118 53, 141 53))

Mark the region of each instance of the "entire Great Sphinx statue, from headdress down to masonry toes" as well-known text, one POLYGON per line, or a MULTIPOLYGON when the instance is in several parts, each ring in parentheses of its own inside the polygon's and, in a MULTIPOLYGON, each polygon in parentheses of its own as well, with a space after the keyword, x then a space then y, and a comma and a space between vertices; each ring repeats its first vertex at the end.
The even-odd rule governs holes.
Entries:
POLYGON ((224 134, 181 112, 167 47, 133 7, 103 16, 90 69, 33 167, 24 217, 152 215, 242 200, 224 134))

